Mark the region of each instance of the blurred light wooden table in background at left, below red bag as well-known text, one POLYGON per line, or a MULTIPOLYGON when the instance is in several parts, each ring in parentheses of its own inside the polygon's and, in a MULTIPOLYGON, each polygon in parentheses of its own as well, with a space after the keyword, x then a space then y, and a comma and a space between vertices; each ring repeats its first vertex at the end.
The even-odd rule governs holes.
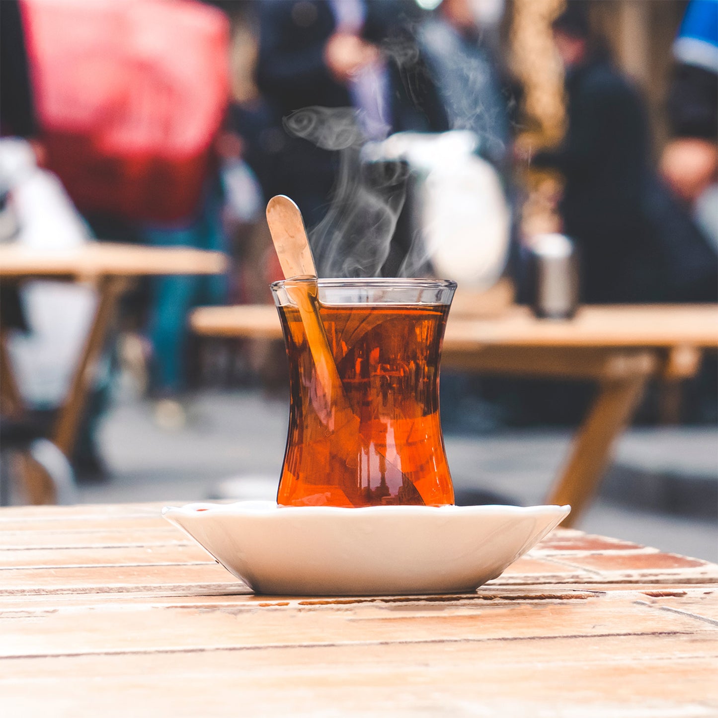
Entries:
MULTIPOLYGON (((129 282, 139 276, 220 274, 226 271, 226 267, 224 254, 186 247, 106 242, 92 242, 57 251, 16 245, 0 247, 0 281, 86 281, 93 284, 98 292, 98 303, 86 344, 53 431, 52 439, 63 453, 69 455, 72 452, 87 393, 116 313, 117 302, 129 282)), ((11 371, 4 332, 0 332, 0 396, 5 412, 22 413, 22 398, 11 371)), ((43 497, 35 498, 42 500, 43 497)))

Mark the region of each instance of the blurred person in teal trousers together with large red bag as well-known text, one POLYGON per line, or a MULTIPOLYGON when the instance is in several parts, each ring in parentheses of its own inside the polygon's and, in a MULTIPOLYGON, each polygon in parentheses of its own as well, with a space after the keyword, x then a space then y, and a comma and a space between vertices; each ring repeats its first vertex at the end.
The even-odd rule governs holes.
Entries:
MULTIPOLYGON (((60 177, 93 233, 111 241, 224 248, 213 138, 220 129, 229 84, 223 79, 226 18, 216 9, 190 2, 98 4, 74 16, 75 6, 62 3, 26 0, 21 14, 17 2, 3 0, 0 9, 3 132, 7 127, 34 141, 42 150, 40 164, 60 177), (128 31, 121 41, 103 44, 102 32, 112 32, 116 14, 124 14, 128 31), (185 22, 190 14, 201 14, 206 22, 195 28, 191 18, 185 22), (158 42, 147 46, 149 50, 142 45, 142 24, 148 17, 165 21, 155 28, 158 42), (73 27, 86 21, 93 33, 80 32, 83 42, 66 52, 66 43, 72 41, 55 27, 58 19, 60 25, 73 27), (167 36, 178 31, 193 41, 181 50, 167 42, 167 36), (32 42, 26 47, 27 38, 32 42), (203 43, 199 50, 198 43, 203 43), (190 52, 197 52, 198 64, 180 62, 190 52), (167 72, 173 63, 180 63, 181 72, 167 72), (210 77, 207 70, 192 74, 193 67, 207 65, 216 76, 210 77), (114 81, 104 83, 103 73, 110 70, 114 81), (167 78, 175 85, 167 85, 167 78), (55 98, 77 100, 48 102, 42 95, 48 88, 55 98), (35 113, 35 106, 44 110, 35 113), (73 121, 69 138, 68 116, 73 121), (196 120, 190 133, 188 117, 196 120)), ((225 297, 224 277, 167 276, 154 284, 147 336, 160 424, 178 426, 183 421, 177 398, 187 380, 188 309, 225 297)), ((86 409, 87 428, 73 457, 80 477, 104 472, 95 437, 108 390, 109 384, 98 389, 86 409)))

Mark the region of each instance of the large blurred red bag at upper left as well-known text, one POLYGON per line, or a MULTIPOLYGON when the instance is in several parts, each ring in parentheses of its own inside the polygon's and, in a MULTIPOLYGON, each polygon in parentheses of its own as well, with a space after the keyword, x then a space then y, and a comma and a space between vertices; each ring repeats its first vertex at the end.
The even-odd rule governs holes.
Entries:
POLYGON ((22 16, 47 167, 78 208, 188 218, 229 97, 224 14, 191 0, 22 0, 22 16))

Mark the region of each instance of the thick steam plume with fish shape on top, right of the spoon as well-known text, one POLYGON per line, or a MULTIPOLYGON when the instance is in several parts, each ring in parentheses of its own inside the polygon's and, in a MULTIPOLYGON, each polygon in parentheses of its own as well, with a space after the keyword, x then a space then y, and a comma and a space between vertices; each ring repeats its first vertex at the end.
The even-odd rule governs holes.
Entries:
POLYGON ((331 206, 308 230, 319 276, 378 276, 404 206, 406 165, 362 162, 365 139, 352 108, 303 108, 284 123, 290 134, 339 151, 331 206))

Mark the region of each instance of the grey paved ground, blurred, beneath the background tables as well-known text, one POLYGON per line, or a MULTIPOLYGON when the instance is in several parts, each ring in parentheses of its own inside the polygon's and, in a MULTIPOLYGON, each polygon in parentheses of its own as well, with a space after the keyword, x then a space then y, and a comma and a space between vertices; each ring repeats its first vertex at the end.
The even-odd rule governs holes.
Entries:
MULTIPOLYGON (((262 491, 271 494, 284 452, 284 401, 268 399, 259 391, 203 392, 189 402, 185 426, 175 430, 158 428, 152 408, 148 401, 133 398, 116 404, 102 432, 113 476, 108 482, 83 485, 80 501, 202 500, 215 495, 221 482, 231 477, 241 477, 240 490, 247 498, 262 491)), ((535 429, 448 434, 446 450, 457 493, 470 500, 469 492, 480 489, 523 505, 540 503, 570 436, 566 430, 535 429)), ((630 480, 633 474, 625 470, 638 467, 644 480, 641 495, 653 475, 684 476, 714 489, 718 429, 633 430, 622 439, 617 463, 624 472, 614 475, 613 483, 625 482, 626 476, 630 480)), ((621 497, 615 490, 611 495, 610 500, 594 503, 579 528, 718 561, 718 521, 712 510, 704 510, 707 516, 700 519, 671 516, 617 503, 615 497, 621 497)), ((640 496, 638 503, 643 505, 640 496)))

